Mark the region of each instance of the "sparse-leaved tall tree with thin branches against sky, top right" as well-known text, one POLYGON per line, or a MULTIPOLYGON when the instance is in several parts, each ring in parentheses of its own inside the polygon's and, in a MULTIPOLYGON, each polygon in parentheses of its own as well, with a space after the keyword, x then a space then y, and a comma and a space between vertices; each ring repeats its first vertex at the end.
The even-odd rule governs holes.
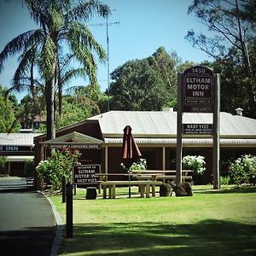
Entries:
POLYGON ((241 61, 252 73, 247 44, 255 38, 253 23, 243 18, 247 2, 253 0, 194 0, 189 6, 189 14, 195 16, 207 26, 213 37, 206 34, 196 35, 190 30, 186 38, 197 48, 212 55, 214 59, 225 55, 231 47, 241 51, 241 61))

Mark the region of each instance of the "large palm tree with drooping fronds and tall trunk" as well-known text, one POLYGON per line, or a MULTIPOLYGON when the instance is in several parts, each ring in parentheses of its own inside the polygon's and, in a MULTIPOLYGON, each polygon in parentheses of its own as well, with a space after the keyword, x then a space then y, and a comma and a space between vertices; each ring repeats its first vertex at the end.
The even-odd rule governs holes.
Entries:
MULTIPOLYGON (((0 53, 0 72, 3 62, 10 56, 22 53, 20 66, 16 70, 16 82, 22 78, 33 57, 37 56, 38 73, 45 81, 47 110, 47 139, 55 137, 54 96, 58 77, 58 60, 61 52, 71 52, 84 68, 91 84, 96 84, 96 60, 106 59, 105 51, 98 44, 88 27, 82 23, 92 15, 103 18, 110 14, 107 4, 98 0, 77 2, 75 0, 20 0, 25 3, 38 29, 24 32, 11 40, 0 53)), ((20 88, 21 89, 21 88, 20 88)))

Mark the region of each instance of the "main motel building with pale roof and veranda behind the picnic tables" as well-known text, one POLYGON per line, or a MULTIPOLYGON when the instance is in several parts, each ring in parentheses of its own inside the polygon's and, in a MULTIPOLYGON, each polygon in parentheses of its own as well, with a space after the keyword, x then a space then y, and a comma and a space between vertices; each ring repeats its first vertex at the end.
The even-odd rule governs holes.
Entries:
MULTIPOLYGON (((201 183, 212 183, 212 135, 209 125, 212 124, 212 113, 183 113, 183 124, 189 124, 183 131, 183 156, 204 156, 207 164, 201 183)), ((177 112, 172 108, 152 112, 110 111, 57 130, 55 139, 46 141, 46 135, 34 137, 36 165, 47 157, 49 148, 77 148, 82 153, 80 162, 83 165, 100 164, 103 173, 124 173, 120 164, 126 125, 131 126, 148 169, 176 169, 177 112)), ((242 116, 241 112, 221 112, 220 175, 229 172, 227 160, 236 159, 241 154, 256 154, 256 119, 242 116)), ((108 177, 109 180, 124 178, 108 177)))

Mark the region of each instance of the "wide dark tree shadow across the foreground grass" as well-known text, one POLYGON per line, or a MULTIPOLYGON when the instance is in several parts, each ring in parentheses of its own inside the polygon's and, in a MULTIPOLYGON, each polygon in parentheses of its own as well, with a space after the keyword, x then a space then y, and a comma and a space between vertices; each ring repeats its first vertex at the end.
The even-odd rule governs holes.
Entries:
POLYGON ((61 253, 79 255, 256 255, 256 226, 208 219, 195 224, 79 224, 61 253))

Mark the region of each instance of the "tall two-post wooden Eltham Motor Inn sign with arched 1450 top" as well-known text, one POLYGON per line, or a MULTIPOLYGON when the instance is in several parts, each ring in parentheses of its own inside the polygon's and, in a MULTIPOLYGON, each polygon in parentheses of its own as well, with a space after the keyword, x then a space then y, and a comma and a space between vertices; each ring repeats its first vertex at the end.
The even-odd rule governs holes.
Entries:
POLYGON ((213 189, 219 189, 219 75, 208 67, 189 67, 177 74, 177 183, 182 174, 182 137, 209 135, 213 137, 213 189), (213 113, 213 124, 183 124, 184 112, 213 113))

